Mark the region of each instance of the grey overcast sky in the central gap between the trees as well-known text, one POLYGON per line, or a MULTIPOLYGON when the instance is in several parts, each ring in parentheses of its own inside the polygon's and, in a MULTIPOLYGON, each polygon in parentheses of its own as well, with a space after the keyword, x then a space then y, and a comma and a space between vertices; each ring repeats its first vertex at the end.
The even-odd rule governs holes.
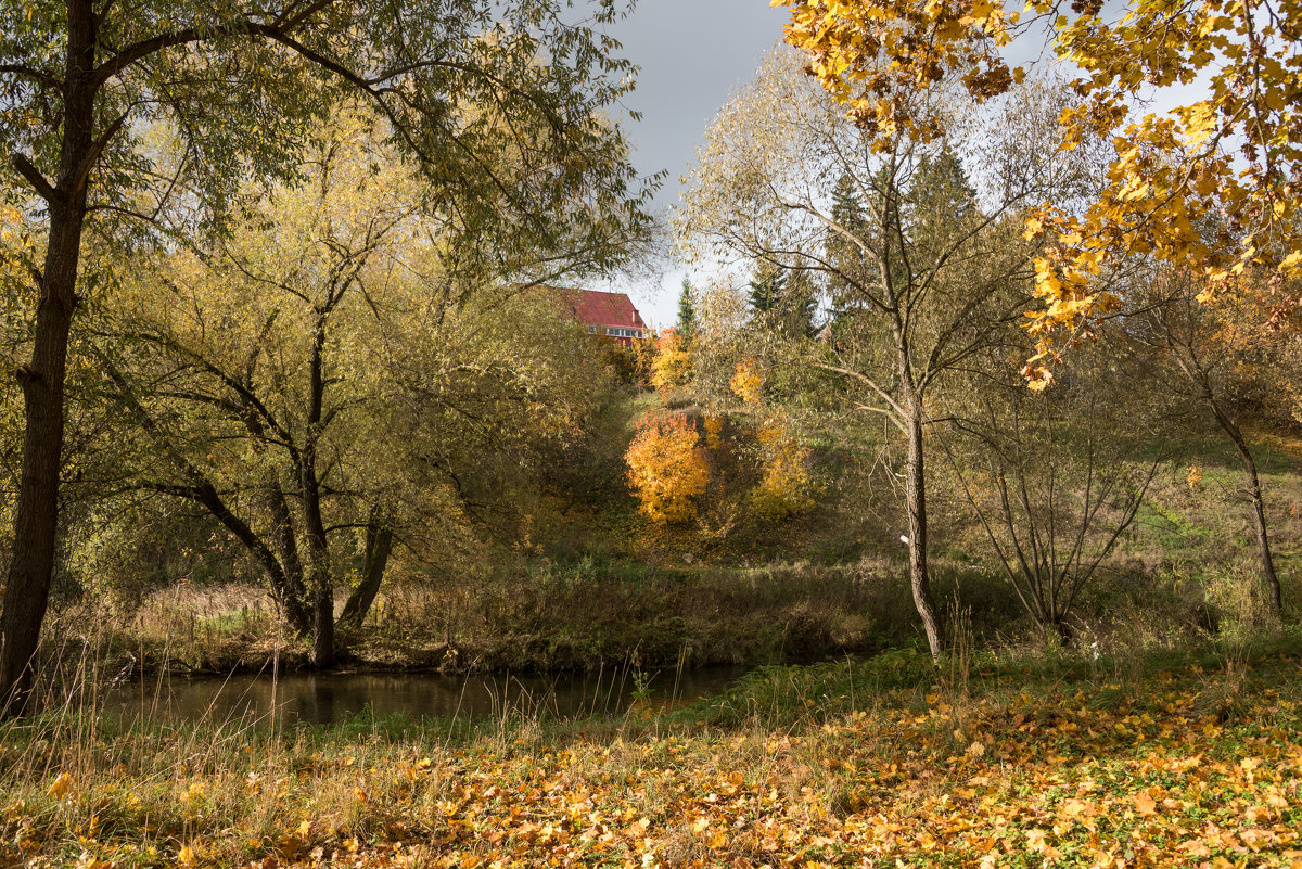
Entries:
MULTIPOLYGON (((706 125, 781 40, 788 14, 767 0, 638 0, 635 12, 611 31, 624 43, 624 56, 642 66, 626 105, 643 116, 629 134, 643 174, 669 173, 658 207, 677 202, 678 177, 695 157, 706 125)), ((642 316, 661 328, 677 317, 682 277, 668 271, 592 289, 628 291, 642 316)))

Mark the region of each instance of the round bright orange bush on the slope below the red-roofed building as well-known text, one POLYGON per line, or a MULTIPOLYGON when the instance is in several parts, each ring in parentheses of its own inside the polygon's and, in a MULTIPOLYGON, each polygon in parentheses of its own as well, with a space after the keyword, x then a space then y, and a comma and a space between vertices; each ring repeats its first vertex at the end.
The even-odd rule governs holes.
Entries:
POLYGON ((652 522, 676 524, 697 516, 697 502, 710 484, 700 434, 682 416, 647 411, 625 453, 629 485, 652 522))

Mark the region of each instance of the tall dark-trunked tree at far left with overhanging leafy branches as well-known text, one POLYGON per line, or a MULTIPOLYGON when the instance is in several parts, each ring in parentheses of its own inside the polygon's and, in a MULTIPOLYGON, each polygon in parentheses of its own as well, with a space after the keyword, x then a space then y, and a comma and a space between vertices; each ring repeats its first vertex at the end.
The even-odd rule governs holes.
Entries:
POLYGON ((68 338, 96 284, 81 273, 87 230, 117 234, 167 208, 220 212, 241 180, 292 176, 344 94, 387 120, 458 232, 495 243, 546 237, 557 204, 592 195, 635 215, 625 148, 611 147, 621 134, 600 117, 630 87, 628 62, 595 30, 615 5, 595 0, 582 23, 556 0, 66 0, 9 16, 0 142, 39 252, 30 360, 16 375, 26 433, 0 691, 23 693, 48 602, 68 338), (155 124, 180 138, 194 194, 176 198, 146 140, 155 124), (490 155, 516 130, 518 167, 503 177, 490 155))

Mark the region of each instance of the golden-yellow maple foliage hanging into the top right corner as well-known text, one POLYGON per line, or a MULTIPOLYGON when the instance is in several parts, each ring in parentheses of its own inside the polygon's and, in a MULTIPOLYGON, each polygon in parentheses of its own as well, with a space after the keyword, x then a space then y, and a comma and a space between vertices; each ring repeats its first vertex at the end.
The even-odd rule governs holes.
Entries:
POLYGON ((1079 70, 1061 142, 1111 137, 1116 154, 1083 207, 1048 199, 1027 215, 1027 232, 1044 242, 1032 385, 1047 385, 1049 363, 1120 302, 1109 278, 1133 255, 1198 276, 1204 301, 1233 276, 1264 271, 1276 312, 1297 303, 1285 291, 1302 268, 1297 0, 1036 0, 1025 12, 1001 0, 781 1, 792 8, 786 40, 868 130, 928 140, 935 122, 907 95, 950 87, 956 74, 976 100, 1006 92, 1023 72, 1004 49, 1014 36, 1036 39, 1042 25, 1057 57, 1079 70), (1135 111, 1190 86, 1198 99, 1135 111), (1208 215, 1221 221, 1212 235, 1199 230, 1208 215))

